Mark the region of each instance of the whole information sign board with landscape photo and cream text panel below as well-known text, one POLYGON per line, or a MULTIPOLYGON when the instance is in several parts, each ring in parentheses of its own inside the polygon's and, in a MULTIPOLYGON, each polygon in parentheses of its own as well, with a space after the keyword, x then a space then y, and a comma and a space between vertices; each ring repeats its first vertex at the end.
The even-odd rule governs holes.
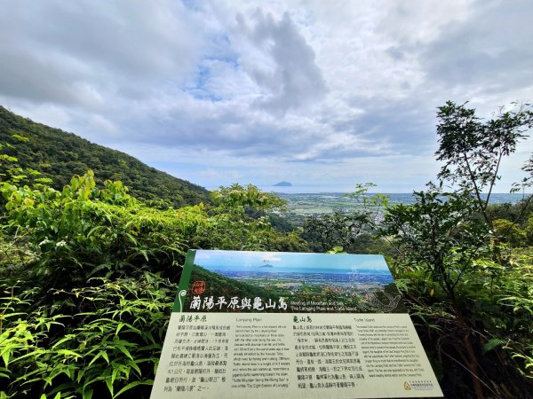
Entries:
POLYGON ((191 250, 152 399, 442 397, 380 255, 191 250))

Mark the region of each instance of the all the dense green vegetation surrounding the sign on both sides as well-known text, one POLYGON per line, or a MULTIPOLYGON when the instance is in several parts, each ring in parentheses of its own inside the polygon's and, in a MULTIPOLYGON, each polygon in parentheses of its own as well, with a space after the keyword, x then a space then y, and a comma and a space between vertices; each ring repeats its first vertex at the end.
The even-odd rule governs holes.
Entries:
POLYGON ((362 184, 352 194, 358 211, 310 218, 299 231, 270 217, 282 200, 251 185, 176 208, 150 206, 91 170, 59 188, 18 159, 36 135, 9 125, 0 153, 0 397, 147 397, 188 248, 334 247, 387 255, 445 395, 528 397, 533 213, 529 200, 489 206, 476 192, 492 190, 533 113, 481 121, 448 103, 439 119, 441 180, 413 205, 388 206, 362 184))

